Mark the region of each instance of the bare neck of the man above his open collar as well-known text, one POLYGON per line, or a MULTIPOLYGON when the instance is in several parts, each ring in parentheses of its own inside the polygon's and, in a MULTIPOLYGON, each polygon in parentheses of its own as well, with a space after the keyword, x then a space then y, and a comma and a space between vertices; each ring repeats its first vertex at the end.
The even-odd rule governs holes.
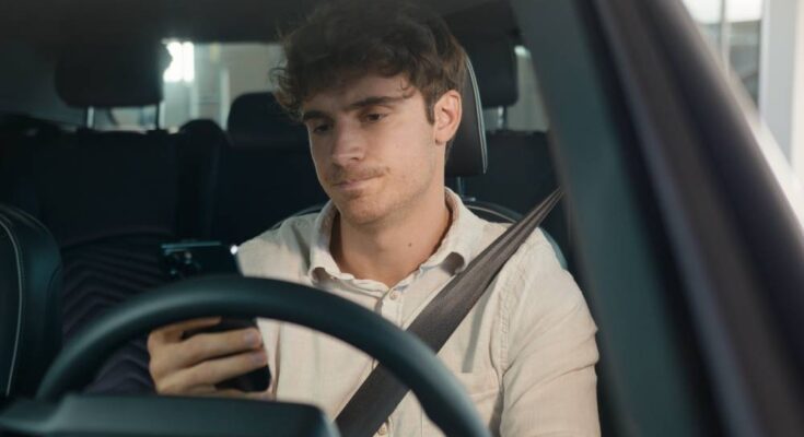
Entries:
POLYGON ((338 215, 330 250, 342 272, 392 287, 435 252, 450 222, 451 212, 441 189, 440 194, 428 194, 416 211, 395 217, 393 223, 353 226, 338 215))

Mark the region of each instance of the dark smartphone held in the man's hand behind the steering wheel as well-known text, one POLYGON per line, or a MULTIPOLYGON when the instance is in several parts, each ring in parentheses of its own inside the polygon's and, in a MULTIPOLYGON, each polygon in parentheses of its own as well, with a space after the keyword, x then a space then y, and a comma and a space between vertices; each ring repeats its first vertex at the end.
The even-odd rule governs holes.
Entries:
MULTIPOLYGON (((220 241, 180 241, 162 245, 162 263, 167 275, 182 280, 203 274, 240 274, 235 256, 237 247, 220 241)), ((184 338, 202 332, 225 332, 245 328, 257 328, 255 319, 223 318, 213 327, 189 330, 184 338)), ((217 385, 218 389, 241 391, 265 391, 270 385, 271 374, 268 366, 217 385)))

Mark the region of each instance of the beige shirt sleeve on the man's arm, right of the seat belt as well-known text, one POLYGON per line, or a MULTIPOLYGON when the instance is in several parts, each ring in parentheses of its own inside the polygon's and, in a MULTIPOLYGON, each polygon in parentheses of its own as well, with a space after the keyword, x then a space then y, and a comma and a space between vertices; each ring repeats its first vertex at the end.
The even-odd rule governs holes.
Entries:
POLYGON ((515 258, 506 265, 511 285, 501 308, 500 433, 599 436, 597 329, 583 295, 544 237, 529 239, 515 258))

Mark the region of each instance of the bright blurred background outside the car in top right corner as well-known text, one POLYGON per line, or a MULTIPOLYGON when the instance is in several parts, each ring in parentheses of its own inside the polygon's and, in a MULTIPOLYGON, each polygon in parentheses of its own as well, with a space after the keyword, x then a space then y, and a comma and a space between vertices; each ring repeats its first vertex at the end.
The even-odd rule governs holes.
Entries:
POLYGON ((683 1, 804 180, 804 2, 683 1))

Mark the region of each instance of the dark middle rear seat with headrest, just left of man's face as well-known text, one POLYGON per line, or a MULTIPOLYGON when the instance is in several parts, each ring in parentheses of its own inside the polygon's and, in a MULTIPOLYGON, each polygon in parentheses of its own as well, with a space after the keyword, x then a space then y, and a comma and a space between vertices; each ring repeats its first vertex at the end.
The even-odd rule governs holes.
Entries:
POLYGON ((246 94, 232 105, 228 122, 232 144, 221 155, 214 239, 240 244, 327 200, 310 156, 306 129, 290 123, 276 107, 269 93, 246 94))

